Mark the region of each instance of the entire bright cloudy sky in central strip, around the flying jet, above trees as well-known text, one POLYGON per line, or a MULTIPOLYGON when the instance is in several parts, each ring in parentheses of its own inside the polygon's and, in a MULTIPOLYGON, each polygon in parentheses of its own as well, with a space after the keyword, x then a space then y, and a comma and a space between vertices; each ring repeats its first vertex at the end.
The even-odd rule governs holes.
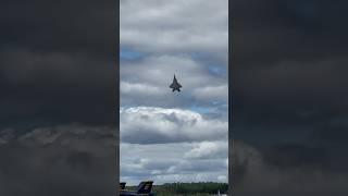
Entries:
POLYGON ((227 182, 227 8, 121 0, 122 181, 227 182))

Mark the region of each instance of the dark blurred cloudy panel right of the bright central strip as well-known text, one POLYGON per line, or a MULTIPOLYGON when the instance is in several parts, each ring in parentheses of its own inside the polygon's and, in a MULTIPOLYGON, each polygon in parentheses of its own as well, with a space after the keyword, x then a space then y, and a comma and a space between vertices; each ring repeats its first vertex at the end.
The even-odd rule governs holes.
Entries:
POLYGON ((233 1, 232 135, 253 147, 233 169, 236 195, 348 192, 347 7, 233 1))

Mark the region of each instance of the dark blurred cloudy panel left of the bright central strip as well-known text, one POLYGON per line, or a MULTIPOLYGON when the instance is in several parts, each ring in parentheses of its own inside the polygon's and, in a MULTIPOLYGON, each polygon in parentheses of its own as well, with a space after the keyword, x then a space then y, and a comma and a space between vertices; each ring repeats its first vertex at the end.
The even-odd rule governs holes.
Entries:
POLYGON ((0 2, 0 195, 115 194, 117 12, 0 2))

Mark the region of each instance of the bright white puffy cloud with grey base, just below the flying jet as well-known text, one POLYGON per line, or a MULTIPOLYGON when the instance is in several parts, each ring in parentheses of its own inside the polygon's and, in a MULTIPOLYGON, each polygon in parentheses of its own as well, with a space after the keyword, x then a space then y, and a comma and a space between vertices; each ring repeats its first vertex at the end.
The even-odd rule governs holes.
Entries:
POLYGON ((228 122, 183 109, 135 107, 120 110, 123 143, 227 140, 228 122))

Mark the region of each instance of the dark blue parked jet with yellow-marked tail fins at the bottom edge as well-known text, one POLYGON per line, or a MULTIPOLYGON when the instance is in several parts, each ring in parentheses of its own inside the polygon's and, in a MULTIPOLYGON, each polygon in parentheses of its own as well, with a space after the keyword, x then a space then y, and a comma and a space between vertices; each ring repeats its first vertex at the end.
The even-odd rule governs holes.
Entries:
POLYGON ((125 183, 120 183, 120 196, 154 196, 151 193, 152 183, 153 181, 142 181, 138 185, 137 191, 125 189, 125 183))

